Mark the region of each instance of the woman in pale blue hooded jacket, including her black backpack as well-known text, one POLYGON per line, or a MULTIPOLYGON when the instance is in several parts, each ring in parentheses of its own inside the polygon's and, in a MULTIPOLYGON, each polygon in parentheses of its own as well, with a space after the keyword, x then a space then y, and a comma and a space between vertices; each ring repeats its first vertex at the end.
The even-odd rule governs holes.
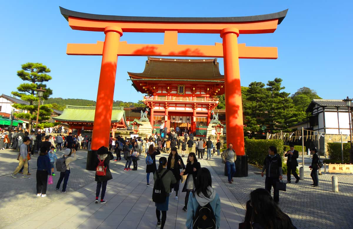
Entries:
POLYGON ((189 194, 187 203, 186 228, 219 228, 221 200, 212 187, 211 173, 201 168, 196 177, 195 191, 189 194), (206 216, 206 219, 199 217, 206 216))

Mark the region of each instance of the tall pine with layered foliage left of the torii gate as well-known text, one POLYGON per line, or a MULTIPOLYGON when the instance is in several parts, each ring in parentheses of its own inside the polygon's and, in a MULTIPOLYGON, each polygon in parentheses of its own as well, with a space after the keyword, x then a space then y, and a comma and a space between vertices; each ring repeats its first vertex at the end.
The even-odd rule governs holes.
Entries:
MULTIPOLYGON (((29 129, 32 129, 32 120, 36 120, 37 117, 37 107, 38 107, 38 97, 37 89, 43 88, 46 90, 43 95, 43 99, 46 100, 50 95, 53 94, 50 88, 47 88, 46 84, 43 82, 48 82, 52 79, 47 73, 50 69, 42 63, 26 63, 21 66, 21 70, 17 71, 17 76, 23 81, 30 83, 23 83, 17 87, 18 91, 11 92, 12 95, 19 97, 21 100, 26 101, 29 105, 25 104, 13 104, 16 109, 28 110, 29 113, 18 113, 15 114, 18 118, 28 119, 29 129)), ((51 110, 46 106, 40 106, 40 121, 45 121, 49 119, 51 110)))

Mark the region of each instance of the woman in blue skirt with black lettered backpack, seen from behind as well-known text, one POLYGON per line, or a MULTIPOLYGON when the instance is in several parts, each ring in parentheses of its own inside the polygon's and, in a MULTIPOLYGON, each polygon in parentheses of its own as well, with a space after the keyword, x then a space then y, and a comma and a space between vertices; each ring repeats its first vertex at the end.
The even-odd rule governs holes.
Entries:
MULTIPOLYGON (((177 182, 175 179, 172 171, 167 169, 167 158, 161 157, 159 158, 159 166, 157 172, 153 176, 155 185, 154 191, 152 193, 152 200, 155 202, 156 206, 156 216, 157 216, 157 227, 164 228, 164 224, 166 223, 167 219, 167 211, 169 205, 169 193, 170 193, 170 184, 177 182), (161 185, 158 182, 161 179, 162 181, 162 188, 159 187, 161 185), (162 190, 164 189, 164 190, 162 190), (164 191, 164 196, 162 196, 162 192, 164 191), (154 193, 157 193, 158 197, 163 198, 163 200, 157 201, 155 199, 154 193), (165 199, 164 199, 165 198, 165 199), (161 211, 162 211, 162 220, 161 220, 161 211)), ((158 198, 157 198, 158 199, 158 198)))

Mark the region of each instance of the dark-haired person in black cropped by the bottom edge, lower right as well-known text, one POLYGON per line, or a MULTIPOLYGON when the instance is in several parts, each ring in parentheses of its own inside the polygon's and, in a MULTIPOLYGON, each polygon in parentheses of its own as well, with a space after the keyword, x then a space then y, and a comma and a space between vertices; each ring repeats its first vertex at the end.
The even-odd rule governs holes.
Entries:
MULTIPOLYGON (((250 224, 253 229, 294 229, 291 218, 283 213, 264 188, 255 189, 250 193, 251 211, 250 224)), ((246 213, 249 215, 249 212, 246 213)))

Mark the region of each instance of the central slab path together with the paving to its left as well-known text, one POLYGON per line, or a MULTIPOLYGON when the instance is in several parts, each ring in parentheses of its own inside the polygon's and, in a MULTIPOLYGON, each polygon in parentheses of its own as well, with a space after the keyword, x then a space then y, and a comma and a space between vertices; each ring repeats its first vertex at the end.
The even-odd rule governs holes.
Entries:
MULTIPOLYGON (((83 169, 85 152, 80 153, 82 153, 82 162, 78 160, 72 163, 72 172, 65 194, 55 192, 55 187, 49 185, 46 198, 36 197, 35 179, 17 178, 15 180, 9 175, 1 176, 0 179, 3 179, 3 182, 17 184, 16 187, 11 188, 12 198, 7 198, 7 203, 1 205, 0 215, 7 216, 1 219, 1 228, 156 228, 155 205, 151 201, 153 185, 146 187, 143 160, 139 161, 137 171, 129 172, 123 171, 125 161, 112 161, 111 170, 114 179, 108 181, 105 198, 107 203, 95 204, 94 172, 83 169), (86 184, 85 181, 88 180, 86 184), (84 187, 79 188, 79 184, 84 187), (78 187, 76 191, 74 191, 75 187, 78 187), (17 190, 21 188, 23 191, 17 194, 17 190)), ((184 161, 186 162, 186 158, 184 161)), ((243 220, 244 208, 212 167, 206 161, 201 161, 201 165, 210 169, 214 177, 213 187, 221 198, 220 228, 237 228, 239 222, 243 220)), ((184 198, 185 193, 179 193, 179 200, 174 199, 174 194, 170 198, 165 228, 185 228, 186 212, 182 210, 184 198)))

